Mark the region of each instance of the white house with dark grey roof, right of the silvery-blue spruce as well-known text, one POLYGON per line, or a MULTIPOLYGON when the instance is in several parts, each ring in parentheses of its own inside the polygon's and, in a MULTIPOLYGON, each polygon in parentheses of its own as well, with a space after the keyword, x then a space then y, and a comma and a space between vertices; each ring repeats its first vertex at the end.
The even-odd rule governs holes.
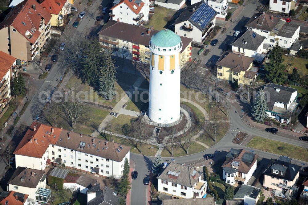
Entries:
POLYGON ((298 103, 297 89, 270 83, 263 88, 267 97, 266 113, 268 117, 277 119, 280 123, 289 123, 298 103))

